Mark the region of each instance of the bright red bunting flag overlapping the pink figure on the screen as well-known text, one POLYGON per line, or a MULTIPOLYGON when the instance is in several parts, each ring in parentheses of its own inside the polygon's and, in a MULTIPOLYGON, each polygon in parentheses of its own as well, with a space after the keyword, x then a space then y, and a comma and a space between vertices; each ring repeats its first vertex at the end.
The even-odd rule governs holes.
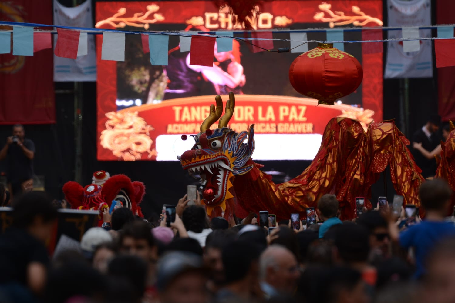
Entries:
POLYGON ((216 39, 216 37, 193 35, 191 37, 190 64, 213 66, 216 39))

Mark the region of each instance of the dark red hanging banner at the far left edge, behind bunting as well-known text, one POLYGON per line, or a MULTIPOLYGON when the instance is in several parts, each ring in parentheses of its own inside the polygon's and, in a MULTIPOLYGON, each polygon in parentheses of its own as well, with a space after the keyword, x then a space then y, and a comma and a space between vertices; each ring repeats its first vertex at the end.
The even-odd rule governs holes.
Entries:
MULTIPOLYGON (((0 20, 52 24, 52 2, 3 1, 0 20)), ((0 124, 55 123, 52 62, 52 49, 33 56, 0 55, 0 124)))

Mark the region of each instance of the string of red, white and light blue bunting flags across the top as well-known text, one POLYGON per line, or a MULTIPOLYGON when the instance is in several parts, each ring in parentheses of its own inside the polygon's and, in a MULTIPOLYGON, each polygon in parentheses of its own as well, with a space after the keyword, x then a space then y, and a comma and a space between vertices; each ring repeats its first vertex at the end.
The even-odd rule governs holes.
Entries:
POLYGON ((435 40, 436 67, 454 66, 455 57, 451 50, 455 48, 454 26, 431 25, 414 27, 372 27, 338 28, 307 30, 255 30, 255 31, 194 31, 194 32, 155 32, 93 29, 69 26, 43 25, 35 23, 0 21, 0 25, 9 25, 13 30, 0 30, 0 54, 11 52, 11 33, 13 35, 13 55, 33 56, 39 50, 51 48, 51 34, 57 35, 55 55, 70 59, 87 54, 87 35, 103 35, 101 47, 102 60, 125 60, 125 35, 142 35, 142 47, 150 52, 152 65, 167 65, 169 36, 178 36, 180 51, 190 51, 190 64, 212 66, 215 42, 217 51, 231 51, 232 40, 242 41, 252 46, 254 53, 261 51, 303 53, 308 51, 308 42, 334 43, 334 47, 344 50, 344 43, 362 43, 364 53, 382 53, 382 42, 402 41, 404 52, 420 50, 419 40, 435 40), (35 27, 53 27, 56 30, 35 30, 35 27), (420 37, 419 30, 437 30, 436 37, 420 37), (383 39, 383 31, 402 30, 404 38, 383 39), (362 40, 344 40, 344 32, 361 31, 362 40), (326 32, 326 40, 308 40, 307 33, 326 32), (289 39, 273 38, 273 33, 289 34, 289 39), (243 34, 243 37, 234 37, 243 34), (251 35, 251 37, 248 36, 251 35), (273 49, 273 41, 289 41, 290 46, 273 49), (365 43, 367 42, 367 43, 365 43))

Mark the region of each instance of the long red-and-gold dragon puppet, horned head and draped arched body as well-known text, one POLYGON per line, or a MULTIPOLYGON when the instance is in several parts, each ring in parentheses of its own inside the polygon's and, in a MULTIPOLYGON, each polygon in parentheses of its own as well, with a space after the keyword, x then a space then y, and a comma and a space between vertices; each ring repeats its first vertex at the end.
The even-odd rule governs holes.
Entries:
MULTIPOLYGON (((200 133, 193 136, 193 148, 177 157, 183 169, 201 177, 202 202, 209 216, 243 218, 249 212, 268 210, 278 219, 288 219, 291 213, 316 207, 322 195, 336 194, 342 218, 352 219, 355 197, 370 197, 371 185, 388 165, 394 189, 405 203, 420 203, 418 189, 424 179, 406 147, 409 140, 393 120, 370 123, 365 132, 357 120, 331 119, 308 168, 288 182, 275 184, 260 170, 263 165, 251 158, 254 125, 240 133, 227 127, 234 113, 234 94, 229 94, 223 116, 222 99, 215 100, 216 107, 210 106, 200 133), (218 119, 218 128, 210 129, 218 119)), ((371 208, 369 201, 365 205, 371 208)))

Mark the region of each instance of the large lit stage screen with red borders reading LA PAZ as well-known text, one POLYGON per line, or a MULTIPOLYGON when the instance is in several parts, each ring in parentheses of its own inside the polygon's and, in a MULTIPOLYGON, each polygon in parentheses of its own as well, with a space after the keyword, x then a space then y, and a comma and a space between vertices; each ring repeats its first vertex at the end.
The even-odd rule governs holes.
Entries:
MULTIPOLYGON (((260 11, 251 20, 257 29, 334 27, 362 20, 363 26, 382 24, 381 0, 270 1, 260 11)), ((212 1, 96 3, 97 28, 169 30, 169 26, 173 30, 242 29, 229 10, 212 1)), ((325 33, 308 35, 314 35, 310 40, 325 40, 325 33)), ((361 32, 347 32, 345 37, 361 40, 361 32)), ((243 71, 242 84, 227 88, 220 84, 222 79, 185 63, 189 52, 180 52, 178 39, 172 38, 169 65, 161 67, 150 65, 140 35, 126 35, 125 62, 101 60, 102 37, 97 35, 99 160, 176 160, 192 146, 192 139, 182 141, 181 134, 198 133, 214 96, 221 94, 226 100, 231 90, 236 94, 236 109, 229 127, 244 131, 255 124, 254 159, 313 159, 329 119, 349 117, 364 125, 372 118, 382 119, 382 54, 364 54, 360 43, 345 44, 345 48, 361 62, 363 84, 334 106, 318 106, 290 86, 288 69, 298 54, 253 54, 247 45, 235 41, 229 60, 215 56, 219 73, 228 73, 231 67, 243 71), (268 154, 262 154, 265 151, 268 154)), ((288 39, 288 35, 273 34, 273 38, 288 39)), ((275 41, 275 47, 284 47, 279 43, 275 41)))

